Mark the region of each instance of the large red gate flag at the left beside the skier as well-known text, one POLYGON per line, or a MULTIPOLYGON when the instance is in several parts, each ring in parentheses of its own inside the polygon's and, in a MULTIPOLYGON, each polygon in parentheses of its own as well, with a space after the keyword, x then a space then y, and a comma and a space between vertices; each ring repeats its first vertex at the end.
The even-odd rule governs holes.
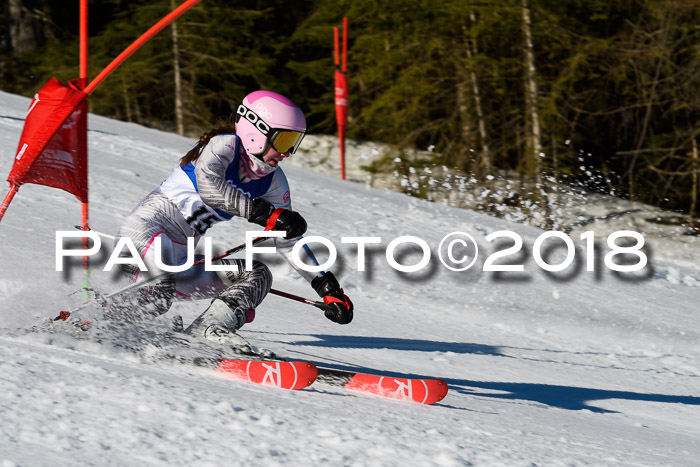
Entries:
POLYGON ((14 187, 36 183, 88 201, 86 79, 68 85, 51 78, 27 111, 15 162, 7 181, 14 187))

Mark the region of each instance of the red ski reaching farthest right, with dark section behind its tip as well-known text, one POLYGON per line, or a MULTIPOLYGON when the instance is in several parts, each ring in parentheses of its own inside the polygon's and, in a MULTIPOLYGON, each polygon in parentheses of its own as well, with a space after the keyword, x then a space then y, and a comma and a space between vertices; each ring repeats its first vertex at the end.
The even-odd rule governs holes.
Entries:
POLYGON ((395 378, 367 373, 319 368, 318 381, 342 386, 351 391, 419 404, 434 404, 447 395, 447 383, 441 379, 395 378))

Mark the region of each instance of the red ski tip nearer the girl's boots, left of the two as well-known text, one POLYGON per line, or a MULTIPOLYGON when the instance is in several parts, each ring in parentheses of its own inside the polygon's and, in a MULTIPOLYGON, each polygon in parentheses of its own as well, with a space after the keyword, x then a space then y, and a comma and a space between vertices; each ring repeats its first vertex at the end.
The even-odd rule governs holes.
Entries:
POLYGON ((228 378, 280 389, 305 388, 318 376, 316 366, 303 361, 222 360, 216 371, 228 378))

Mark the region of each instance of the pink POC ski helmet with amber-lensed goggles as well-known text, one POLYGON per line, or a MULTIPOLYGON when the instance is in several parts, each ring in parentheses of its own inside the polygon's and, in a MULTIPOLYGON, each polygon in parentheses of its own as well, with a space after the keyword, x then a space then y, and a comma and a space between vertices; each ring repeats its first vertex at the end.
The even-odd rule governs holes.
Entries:
POLYGON ((236 110, 236 134, 254 156, 262 156, 268 143, 280 153, 293 154, 305 132, 304 112, 276 92, 251 92, 236 110))

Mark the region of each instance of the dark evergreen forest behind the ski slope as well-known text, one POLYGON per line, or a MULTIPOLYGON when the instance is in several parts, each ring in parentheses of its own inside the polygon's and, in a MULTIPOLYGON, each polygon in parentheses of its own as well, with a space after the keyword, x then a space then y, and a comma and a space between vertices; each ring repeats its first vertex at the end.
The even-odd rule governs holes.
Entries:
MULTIPOLYGON (((3 3, 0 89, 76 78, 78 0, 3 3)), ((90 76, 179 3, 90 0, 90 76)), ((343 17, 349 138, 430 148, 478 180, 575 180, 698 215, 700 0, 202 0, 91 111, 195 136, 262 88, 334 134, 343 17)))

